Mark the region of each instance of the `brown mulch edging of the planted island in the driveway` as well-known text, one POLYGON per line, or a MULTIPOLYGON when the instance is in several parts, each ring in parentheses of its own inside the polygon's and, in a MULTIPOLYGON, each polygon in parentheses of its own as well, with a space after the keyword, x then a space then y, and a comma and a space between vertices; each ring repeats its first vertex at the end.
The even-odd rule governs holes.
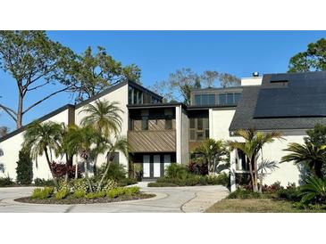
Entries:
POLYGON ((147 193, 138 193, 129 195, 122 195, 114 199, 109 199, 107 197, 98 198, 98 199, 73 199, 71 196, 68 196, 65 199, 31 199, 30 197, 14 199, 15 201, 24 202, 24 203, 36 203, 36 204, 92 204, 92 203, 108 203, 108 202, 120 202, 126 200, 137 200, 137 199, 149 199, 155 197, 155 194, 147 193))

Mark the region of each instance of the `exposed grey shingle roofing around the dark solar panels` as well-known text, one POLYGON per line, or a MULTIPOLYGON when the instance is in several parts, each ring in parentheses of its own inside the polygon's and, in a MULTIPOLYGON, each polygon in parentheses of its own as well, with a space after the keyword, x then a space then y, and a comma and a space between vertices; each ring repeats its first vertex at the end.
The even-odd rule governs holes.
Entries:
MULTIPOLYGON (((244 86, 230 131, 255 128, 257 130, 309 129, 315 124, 326 125, 326 118, 254 118, 255 107, 261 86, 244 86)), ((325 101, 326 102, 326 101, 325 101)))

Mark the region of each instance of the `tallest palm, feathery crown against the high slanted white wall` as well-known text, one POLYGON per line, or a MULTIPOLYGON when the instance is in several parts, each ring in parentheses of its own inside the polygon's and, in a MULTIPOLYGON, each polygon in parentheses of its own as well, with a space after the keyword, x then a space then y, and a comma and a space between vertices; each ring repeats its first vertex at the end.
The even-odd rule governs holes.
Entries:
MULTIPOLYGON (((92 126, 98 133, 103 134, 106 139, 112 134, 116 136, 121 131, 121 113, 123 113, 123 110, 119 108, 119 102, 97 100, 94 105, 88 104, 85 106, 85 109, 80 112, 85 112, 87 114, 82 118, 80 125, 92 126)), ((94 155, 92 155, 94 158, 95 175, 97 155, 103 152, 101 149, 101 142, 96 142, 96 149, 98 150, 94 150, 94 155)))

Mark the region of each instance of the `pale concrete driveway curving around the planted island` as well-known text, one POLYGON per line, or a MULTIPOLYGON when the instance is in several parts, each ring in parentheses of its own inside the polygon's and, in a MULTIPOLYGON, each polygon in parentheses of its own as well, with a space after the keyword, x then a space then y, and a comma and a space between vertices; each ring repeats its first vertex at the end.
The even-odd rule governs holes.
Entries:
POLYGON ((154 193, 152 199, 139 199, 119 203, 81 205, 40 205, 16 202, 26 197, 32 187, 0 188, 0 212, 6 213, 196 213, 204 212, 229 191, 221 185, 189 187, 146 187, 138 183, 141 191, 154 193))

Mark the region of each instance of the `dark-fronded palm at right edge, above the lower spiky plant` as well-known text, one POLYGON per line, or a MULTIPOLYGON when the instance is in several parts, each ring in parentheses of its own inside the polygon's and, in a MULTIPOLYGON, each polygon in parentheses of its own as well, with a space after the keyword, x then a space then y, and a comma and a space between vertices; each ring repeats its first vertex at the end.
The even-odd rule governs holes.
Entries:
POLYGON ((311 142, 305 142, 303 145, 292 142, 285 150, 291 153, 282 157, 280 162, 305 163, 314 175, 322 178, 322 166, 326 162, 326 146, 317 147, 311 142))

